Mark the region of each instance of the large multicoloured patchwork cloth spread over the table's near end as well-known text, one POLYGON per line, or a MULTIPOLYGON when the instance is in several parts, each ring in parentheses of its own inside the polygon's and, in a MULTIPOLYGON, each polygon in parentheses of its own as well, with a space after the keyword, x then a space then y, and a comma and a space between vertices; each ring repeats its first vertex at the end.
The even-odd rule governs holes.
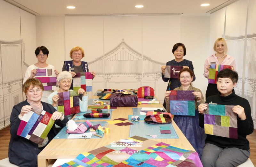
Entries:
POLYGON ((136 140, 133 136, 129 138, 141 145, 142 149, 131 147, 111 147, 118 145, 121 141, 113 141, 111 145, 94 149, 79 154, 76 159, 60 165, 67 166, 115 166, 115 167, 159 167, 159 166, 190 166, 202 167, 198 154, 192 150, 186 150, 159 141, 141 138, 136 140), (143 147, 145 145, 146 147, 143 147), (144 149, 143 149, 144 148, 144 149))

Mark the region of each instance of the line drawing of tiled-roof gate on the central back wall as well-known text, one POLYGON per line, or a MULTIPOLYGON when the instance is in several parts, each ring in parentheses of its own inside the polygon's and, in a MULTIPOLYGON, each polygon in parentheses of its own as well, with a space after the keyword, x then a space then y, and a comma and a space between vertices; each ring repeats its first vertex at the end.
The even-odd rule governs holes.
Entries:
POLYGON ((154 82, 153 89, 159 97, 158 80, 161 78, 161 66, 166 64, 139 53, 122 39, 114 49, 88 62, 88 65, 90 71, 96 71, 98 77, 104 78, 104 88, 111 88, 110 81, 113 77, 127 77, 127 81, 133 77, 137 88, 146 86, 144 84, 147 82, 154 82))

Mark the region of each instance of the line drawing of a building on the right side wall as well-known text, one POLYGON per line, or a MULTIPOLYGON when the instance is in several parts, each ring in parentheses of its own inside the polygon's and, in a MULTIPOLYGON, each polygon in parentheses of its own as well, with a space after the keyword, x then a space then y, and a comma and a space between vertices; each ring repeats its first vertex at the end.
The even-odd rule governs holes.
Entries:
POLYGON ((243 67, 244 38, 245 36, 225 36, 228 45, 228 53, 236 60, 236 71, 238 72, 238 84, 234 88, 237 95, 242 95, 242 74, 244 78, 244 98, 248 100, 252 110, 252 119, 256 124, 256 34, 246 36, 246 66, 243 67))

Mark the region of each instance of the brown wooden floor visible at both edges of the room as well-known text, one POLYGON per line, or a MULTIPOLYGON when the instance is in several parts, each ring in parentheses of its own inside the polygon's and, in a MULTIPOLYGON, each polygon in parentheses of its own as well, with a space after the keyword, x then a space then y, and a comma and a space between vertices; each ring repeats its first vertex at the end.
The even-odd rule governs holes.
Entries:
MULTIPOLYGON (((256 130, 247 136, 250 141, 250 159, 256 166, 256 130)), ((8 145, 10 141, 10 126, 0 130, 0 160, 8 157, 8 145)))

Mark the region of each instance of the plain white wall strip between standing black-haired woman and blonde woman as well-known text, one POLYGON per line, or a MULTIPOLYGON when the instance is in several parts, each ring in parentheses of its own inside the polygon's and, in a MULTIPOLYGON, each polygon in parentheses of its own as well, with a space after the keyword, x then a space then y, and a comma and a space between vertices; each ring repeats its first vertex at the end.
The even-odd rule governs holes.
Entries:
POLYGON ((184 57, 193 62, 196 80, 193 86, 199 88, 205 98, 208 80, 204 78, 204 61, 209 51, 210 16, 181 16, 180 42, 185 44, 187 54, 184 57))

